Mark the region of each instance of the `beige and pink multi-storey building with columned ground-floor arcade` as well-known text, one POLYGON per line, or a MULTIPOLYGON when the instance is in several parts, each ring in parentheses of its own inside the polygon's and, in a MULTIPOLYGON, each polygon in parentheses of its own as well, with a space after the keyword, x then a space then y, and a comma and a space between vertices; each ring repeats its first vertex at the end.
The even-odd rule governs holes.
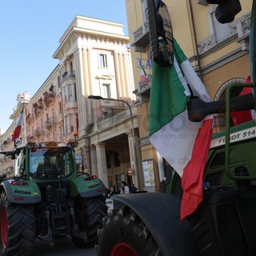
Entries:
POLYGON ((69 142, 78 131, 81 169, 97 174, 106 186, 130 182, 127 172, 137 174, 134 150, 139 149, 129 42, 122 24, 76 16, 54 52, 58 66, 29 101, 25 93, 17 99, 11 118, 15 126, 25 106, 22 142, 69 142))

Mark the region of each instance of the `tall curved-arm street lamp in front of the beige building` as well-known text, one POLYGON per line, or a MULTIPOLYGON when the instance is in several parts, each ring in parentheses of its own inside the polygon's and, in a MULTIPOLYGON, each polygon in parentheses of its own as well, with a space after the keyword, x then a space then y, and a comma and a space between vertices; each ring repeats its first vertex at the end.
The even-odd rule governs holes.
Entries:
MULTIPOLYGON (((115 99, 115 98, 103 98, 102 96, 98 96, 98 95, 90 95, 88 96, 88 98, 91 99, 106 99, 106 100, 110 100, 110 101, 114 101, 114 102, 123 102, 126 104, 126 106, 128 106, 129 110, 130 110, 130 122, 131 122, 131 132, 132 132, 132 139, 133 139, 133 147, 134 147, 134 166, 135 166, 135 173, 136 173, 136 177, 137 177, 137 182, 138 182, 138 190, 141 190, 141 184, 140 184, 140 178, 139 178, 139 174, 138 174, 138 158, 137 158, 137 150, 136 150, 136 146, 135 146, 135 135, 134 135, 134 118, 133 118, 133 114, 131 112, 131 107, 130 104, 122 99, 115 99)), ((132 184, 131 184, 132 185, 132 184)))

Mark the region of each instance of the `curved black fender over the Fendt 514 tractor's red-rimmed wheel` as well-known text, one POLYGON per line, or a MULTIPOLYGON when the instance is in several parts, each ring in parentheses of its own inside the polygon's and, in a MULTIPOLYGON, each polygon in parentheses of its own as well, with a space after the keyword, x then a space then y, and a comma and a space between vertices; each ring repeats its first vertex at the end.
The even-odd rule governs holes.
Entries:
POLYGON ((181 222, 181 199, 166 193, 118 194, 114 209, 129 206, 146 224, 162 254, 198 256, 198 248, 186 220, 181 222), (174 254, 174 252, 178 252, 174 254))

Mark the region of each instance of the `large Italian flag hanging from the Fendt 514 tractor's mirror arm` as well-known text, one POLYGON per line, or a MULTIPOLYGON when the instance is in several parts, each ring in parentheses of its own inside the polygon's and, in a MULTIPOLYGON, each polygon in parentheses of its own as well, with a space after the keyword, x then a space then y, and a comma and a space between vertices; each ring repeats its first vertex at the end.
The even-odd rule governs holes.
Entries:
POLYGON ((186 103, 190 91, 205 102, 211 101, 202 81, 174 40, 174 65, 153 64, 149 134, 154 148, 182 177, 182 220, 202 201, 203 174, 213 126, 212 115, 202 122, 188 119, 186 103))

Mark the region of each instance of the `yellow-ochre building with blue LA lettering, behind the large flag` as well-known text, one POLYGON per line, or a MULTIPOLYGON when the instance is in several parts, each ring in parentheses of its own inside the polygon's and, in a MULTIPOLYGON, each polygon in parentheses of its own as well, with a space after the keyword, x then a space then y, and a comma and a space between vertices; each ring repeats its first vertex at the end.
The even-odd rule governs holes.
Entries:
MULTIPOLYGON (((142 153, 143 173, 154 170, 154 182, 146 182, 146 190, 159 190, 165 177, 164 161, 150 144, 148 114, 150 83, 142 81, 142 68, 150 80, 151 58, 149 27, 146 18, 146 0, 126 0, 129 34, 132 46, 134 81, 138 83, 139 142, 142 153)), ((174 38, 178 41, 194 70, 202 79, 213 100, 225 97, 226 86, 244 82, 250 74, 249 32, 252 1, 241 0, 242 11, 233 22, 221 24, 214 15, 217 5, 204 0, 163 0, 168 6, 174 38)), ((222 130, 225 117, 214 117, 214 131, 222 130)))

